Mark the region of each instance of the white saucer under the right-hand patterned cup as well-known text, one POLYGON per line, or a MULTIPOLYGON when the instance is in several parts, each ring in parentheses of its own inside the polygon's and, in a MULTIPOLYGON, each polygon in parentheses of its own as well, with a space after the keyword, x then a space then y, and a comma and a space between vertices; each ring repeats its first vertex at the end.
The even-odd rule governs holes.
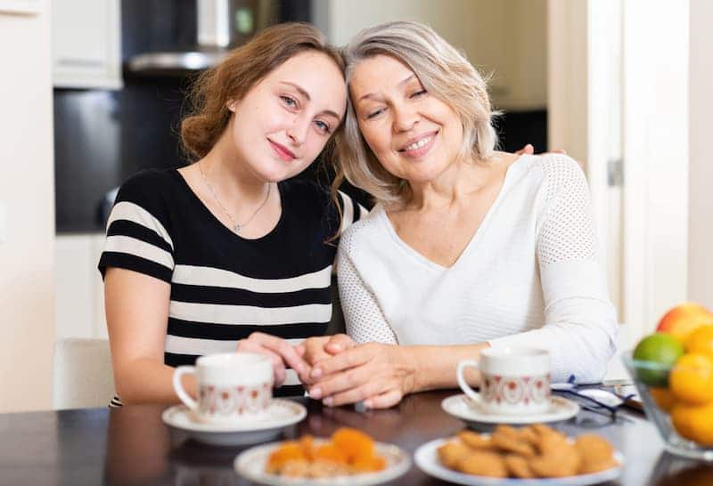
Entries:
POLYGON ((579 412, 579 405, 574 401, 560 396, 550 399, 550 409, 544 413, 530 415, 503 415, 488 413, 479 403, 471 401, 463 393, 448 397, 441 401, 440 406, 447 414, 460 418, 467 425, 480 424, 537 424, 545 422, 560 422, 574 417, 579 412))

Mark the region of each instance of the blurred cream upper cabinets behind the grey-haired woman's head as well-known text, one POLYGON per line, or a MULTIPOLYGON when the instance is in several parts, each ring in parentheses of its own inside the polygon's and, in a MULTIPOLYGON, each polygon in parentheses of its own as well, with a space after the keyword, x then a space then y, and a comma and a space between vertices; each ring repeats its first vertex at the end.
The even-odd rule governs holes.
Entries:
POLYGON ((345 45, 359 30, 389 20, 430 25, 494 74, 498 108, 542 109, 546 92, 546 0, 315 0, 318 28, 345 45))

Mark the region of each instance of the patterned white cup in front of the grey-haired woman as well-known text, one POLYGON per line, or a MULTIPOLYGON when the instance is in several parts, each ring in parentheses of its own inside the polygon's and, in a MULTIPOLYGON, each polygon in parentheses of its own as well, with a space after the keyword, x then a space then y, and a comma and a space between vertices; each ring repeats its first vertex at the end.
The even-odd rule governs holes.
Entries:
POLYGON ((473 405, 502 415, 544 413, 550 407, 550 355, 525 347, 488 348, 480 360, 458 363, 458 385, 473 405), (468 368, 480 370, 480 392, 463 378, 468 368))

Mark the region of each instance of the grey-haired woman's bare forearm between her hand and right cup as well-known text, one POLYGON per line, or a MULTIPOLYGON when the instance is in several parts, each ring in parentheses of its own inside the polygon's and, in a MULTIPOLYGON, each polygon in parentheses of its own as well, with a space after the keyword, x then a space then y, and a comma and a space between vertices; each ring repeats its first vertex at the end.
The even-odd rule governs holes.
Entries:
MULTIPOLYGON (((439 388, 457 388, 455 370, 462 360, 478 360, 480 352, 489 347, 488 343, 440 346, 402 346, 403 360, 411 369, 413 389, 423 392, 439 388)), ((465 379, 471 385, 479 385, 477 370, 467 369, 465 379)))

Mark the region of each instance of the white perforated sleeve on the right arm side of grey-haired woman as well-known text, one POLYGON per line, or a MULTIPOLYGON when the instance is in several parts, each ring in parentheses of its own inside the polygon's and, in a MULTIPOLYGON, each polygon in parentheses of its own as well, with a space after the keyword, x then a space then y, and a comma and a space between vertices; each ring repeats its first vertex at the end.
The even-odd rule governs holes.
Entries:
POLYGON ((537 261, 545 325, 490 342, 548 349, 552 379, 602 380, 616 351, 618 324, 599 260, 586 178, 577 162, 552 156, 544 163, 545 215, 538 231, 537 261))

